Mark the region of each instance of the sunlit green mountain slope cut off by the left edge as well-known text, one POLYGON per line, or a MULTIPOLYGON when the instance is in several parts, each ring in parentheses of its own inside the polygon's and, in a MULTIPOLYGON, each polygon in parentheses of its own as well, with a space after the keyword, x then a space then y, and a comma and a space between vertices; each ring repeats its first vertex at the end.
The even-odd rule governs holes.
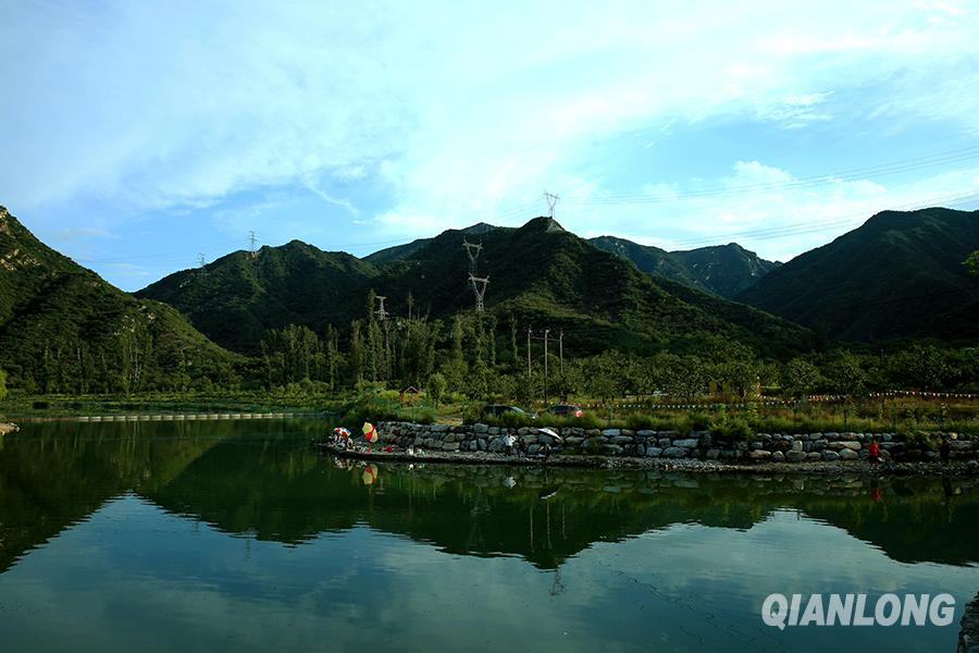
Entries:
POLYGON ((138 300, 40 241, 0 207, 0 367, 51 392, 226 378, 237 357, 172 307, 138 300))

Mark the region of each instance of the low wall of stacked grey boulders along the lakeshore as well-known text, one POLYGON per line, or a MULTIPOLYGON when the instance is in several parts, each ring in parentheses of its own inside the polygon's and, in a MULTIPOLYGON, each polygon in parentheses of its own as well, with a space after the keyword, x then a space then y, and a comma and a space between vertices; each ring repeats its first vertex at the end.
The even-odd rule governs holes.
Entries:
MULTIPOLYGON (((505 449, 504 438, 517 436, 517 448, 536 454, 552 439, 535 428, 506 429, 487 424, 449 426, 382 422, 377 424, 382 443, 445 452, 490 452, 505 449)), ((939 454, 927 444, 910 442, 896 433, 756 433, 746 441, 729 442, 714 438, 709 431, 680 434, 677 431, 632 431, 629 429, 556 429, 565 440, 553 444, 552 453, 645 458, 695 458, 721 461, 859 460, 867 458, 871 440, 880 444, 881 458, 895 461, 938 459, 939 454)), ((956 433, 931 433, 933 442, 946 438, 950 458, 975 459, 979 442, 956 433)))

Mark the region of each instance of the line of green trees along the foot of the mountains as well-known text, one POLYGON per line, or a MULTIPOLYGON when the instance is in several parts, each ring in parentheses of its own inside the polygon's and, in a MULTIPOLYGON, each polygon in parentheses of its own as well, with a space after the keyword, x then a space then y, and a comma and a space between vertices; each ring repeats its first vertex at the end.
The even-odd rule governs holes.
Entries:
POLYGON ((513 316, 380 319, 373 303, 369 296, 364 317, 344 330, 329 324, 319 332, 297 324, 271 329, 256 357, 232 361, 201 361, 178 347, 163 355, 152 334, 139 330, 120 333, 111 349, 95 349, 83 341, 52 343, 34 369, 18 370, 16 387, 32 394, 215 389, 322 394, 371 384, 414 386, 435 401, 456 395, 529 404, 658 393, 746 398, 758 392, 800 397, 890 389, 962 391, 977 390, 979 382, 976 347, 910 344, 876 353, 838 348, 777 360, 719 335, 705 335, 682 353, 609 349, 574 356, 566 350, 561 357, 552 347, 546 365, 542 343, 535 341, 529 370, 528 345, 519 335, 522 325, 513 316))

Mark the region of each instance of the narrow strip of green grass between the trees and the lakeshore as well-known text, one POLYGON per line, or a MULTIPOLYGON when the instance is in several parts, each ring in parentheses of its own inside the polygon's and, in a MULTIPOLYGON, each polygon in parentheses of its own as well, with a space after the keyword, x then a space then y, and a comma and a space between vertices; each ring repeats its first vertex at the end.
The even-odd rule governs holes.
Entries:
MULTIPOLYGON (((579 398, 587 404, 584 398, 579 398)), ((635 408, 615 405, 602 410, 585 410, 581 418, 565 418, 541 411, 536 419, 506 414, 479 419, 482 402, 467 402, 456 395, 434 404, 424 396, 402 406, 397 393, 365 389, 346 394, 301 394, 288 392, 188 392, 146 393, 134 396, 51 395, 35 397, 11 393, 0 403, 0 412, 11 417, 59 417, 72 415, 113 415, 125 412, 277 412, 330 411, 343 416, 345 424, 362 421, 406 420, 423 423, 472 423, 485 421, 497 427, 579 427, 584 429, 632 429, 653 431, 710 430, 729 439, 743 439, 756 432, 897 432, 906 435, 951 431, 979 436, 979 401, 942 402, 915 397, 866 399, 857 402, 802 404, 796 407, 761 404, 709 404, 695 408, 661 408, 655 404, 635 408)))

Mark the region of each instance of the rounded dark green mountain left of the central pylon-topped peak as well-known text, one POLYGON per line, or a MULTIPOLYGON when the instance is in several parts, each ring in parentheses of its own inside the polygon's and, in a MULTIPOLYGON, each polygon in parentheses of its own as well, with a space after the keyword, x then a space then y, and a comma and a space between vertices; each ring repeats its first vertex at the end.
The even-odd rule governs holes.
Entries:
POLYGON ((363 288, 377 269, 343 251, 293 241, 262 247, 255 257, 235 251, 203 268, 182 270, 136 293, 164 301, 205 335, 230 349, 253 354, 268 329, 302 324, 315 331, 363 313, 363 288))

